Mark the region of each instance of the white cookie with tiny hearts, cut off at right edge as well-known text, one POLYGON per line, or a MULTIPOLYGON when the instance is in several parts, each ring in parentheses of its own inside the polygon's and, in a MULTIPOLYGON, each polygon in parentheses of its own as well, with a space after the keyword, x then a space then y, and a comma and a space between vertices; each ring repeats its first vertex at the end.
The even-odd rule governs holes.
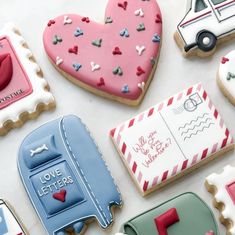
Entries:
POLYGON ((221 91, 235 105, 235 51, 221 58, 217 81, 221 91))

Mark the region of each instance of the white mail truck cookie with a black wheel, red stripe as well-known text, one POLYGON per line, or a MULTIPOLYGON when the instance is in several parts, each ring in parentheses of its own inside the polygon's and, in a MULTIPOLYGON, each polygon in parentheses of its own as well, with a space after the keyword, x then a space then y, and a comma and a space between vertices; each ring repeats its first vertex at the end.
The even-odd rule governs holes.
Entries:
POLYGON ((185 56, 209 56, 218 43, 234 36, 235 6, 231 0, 188 0, 187 13, 175 40, 185 56))

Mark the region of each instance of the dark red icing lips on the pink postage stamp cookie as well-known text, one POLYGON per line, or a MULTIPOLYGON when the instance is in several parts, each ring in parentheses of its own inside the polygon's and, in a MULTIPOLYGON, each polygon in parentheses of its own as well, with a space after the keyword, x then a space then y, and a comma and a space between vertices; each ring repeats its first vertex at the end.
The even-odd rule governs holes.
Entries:
POLYGON ((0 91, 11 81, 13 66, 10 54, 0 55, 0 91))

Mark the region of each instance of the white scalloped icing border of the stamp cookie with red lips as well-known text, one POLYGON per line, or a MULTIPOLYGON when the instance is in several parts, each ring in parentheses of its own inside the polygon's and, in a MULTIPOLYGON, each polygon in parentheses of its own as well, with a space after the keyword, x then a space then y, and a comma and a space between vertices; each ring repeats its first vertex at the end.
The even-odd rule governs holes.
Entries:
POLYGON ((44 104, 46 106, 55 102, 52 94, 47 91, 47 81, 38 75, 41 71, 37 63, 30 60, 33 54, 25 47, 25 39, 19 35, 18 28, 13 23, 8 23, 0 30, 0 36, 7 36, 14 47, 14 50, 27 73, 32 85, 33 92, 0 110, 0 128, 3 128, 7 121, 17 122, 22 113, 33 114, 37 112, 37 106, 44 104))

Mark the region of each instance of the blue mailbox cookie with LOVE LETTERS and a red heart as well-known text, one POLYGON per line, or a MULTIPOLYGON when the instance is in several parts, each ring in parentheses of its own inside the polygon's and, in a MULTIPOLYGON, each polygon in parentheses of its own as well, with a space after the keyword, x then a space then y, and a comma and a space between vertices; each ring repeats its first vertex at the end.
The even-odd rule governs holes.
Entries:
POLYGON ((49 235, 83 233, 91 220, 108 228, 111 209, 122 204, 101 153, 76 116, 29 134, 19 150, 18 168, 49 235))

